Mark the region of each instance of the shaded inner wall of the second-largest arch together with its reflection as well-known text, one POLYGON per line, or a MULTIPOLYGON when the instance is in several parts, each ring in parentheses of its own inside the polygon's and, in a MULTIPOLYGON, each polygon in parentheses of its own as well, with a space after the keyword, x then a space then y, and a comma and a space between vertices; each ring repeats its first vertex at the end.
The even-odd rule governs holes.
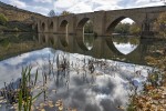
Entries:
POLYGON ((84 26, 89 20, 90 18, 83 18, 76 26, 76 42, 84 51, 89 51, 87 47, 84 44, 84 26))

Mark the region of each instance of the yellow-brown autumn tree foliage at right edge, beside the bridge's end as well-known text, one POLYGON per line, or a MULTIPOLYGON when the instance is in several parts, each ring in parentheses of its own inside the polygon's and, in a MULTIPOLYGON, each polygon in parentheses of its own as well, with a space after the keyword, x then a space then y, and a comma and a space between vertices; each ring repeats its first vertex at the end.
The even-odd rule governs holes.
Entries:
POLYGON ((154 23, 154 30, 163 38, 166 38, 166 12, 163 12, 154 23))

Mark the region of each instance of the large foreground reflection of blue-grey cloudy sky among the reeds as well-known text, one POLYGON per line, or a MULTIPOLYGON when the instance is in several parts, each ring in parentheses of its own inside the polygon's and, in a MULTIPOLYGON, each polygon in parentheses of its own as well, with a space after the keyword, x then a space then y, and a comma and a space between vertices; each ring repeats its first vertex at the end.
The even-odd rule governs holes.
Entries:
MULTIPOLYGON (((11 79, 15 81, 20 77, 21 67, 31 64, 33 72, 35 69, 46 72, 48 58, 53 61, 58 53, 64 54, 62 51, 45 48, 1 61, 0 88, 3 87, 4 81, 8 83, 11 79)), ((131 92, 128 79, 135 85, 141 85, 139 83, 147 77, 147 67, 102 59, 100 61, 105 61, 107 68, 101 69, 95 64, 95 72, 91 74, 89 70, 83 70, 84 62, 87 63, 91 57, 77 53, 65 53, 65 56, 73 68, 70 68, 70 73, 58 75, 56 62, 53 62, 54 72, 49 77, 48 99, 53 101, 62 99, 65 107, 76 108, 79 111, 118 111, 117 107, 126 104, 131 92), (79 73, 76 69, 80 70, 79 73), (142 74, 136 77, 134 71, 138 70, 142 74), (56 89, 56 93, 51 92, 52 89, 56 89)), ((40 78, 41 75, 39 77, 41 81, 40 78)), ((40 97, 37 102, 42 100, 43 98, 40 97)))

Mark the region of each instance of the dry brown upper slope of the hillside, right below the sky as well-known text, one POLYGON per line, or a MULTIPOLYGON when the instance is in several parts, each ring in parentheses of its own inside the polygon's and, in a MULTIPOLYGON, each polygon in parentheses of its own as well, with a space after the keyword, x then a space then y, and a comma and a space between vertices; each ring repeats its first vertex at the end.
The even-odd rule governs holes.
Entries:
POLYGON ((3 13, 9 21, 31 21, 34 18, 46 18, 42 14, 19 9, 0 1, 0 13, 3 13))

